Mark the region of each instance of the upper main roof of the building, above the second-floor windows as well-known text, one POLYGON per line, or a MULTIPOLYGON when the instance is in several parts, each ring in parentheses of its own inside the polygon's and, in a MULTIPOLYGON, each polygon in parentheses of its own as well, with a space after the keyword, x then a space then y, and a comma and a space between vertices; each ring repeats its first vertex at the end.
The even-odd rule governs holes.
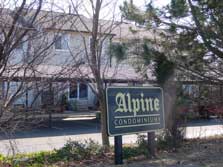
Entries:
MULTIPOLYGON (((21 13, 18 22, 20 23, 21 27, 29 26, 29 28, 31 28, 29 21, 35 14, 36 10, 27 10, 28 11, 21 13)), ((15 11, 16 9, 1 9, 1 15, 4 15, 4 17, 0 18, 0 24, 11 26, 13 21, 12 17, 15 14, 15 11)), ((84 15, 41 10, 33 23, 32 28, 89 33, 92 30, 92 24, 92 18, 87 18, 84 15)), ((151 39, 158 37, 158 33, 155 30, 147 30, 146 28, 126 22, 100 20, 99 29, 100 33, 114 35, 114 41, 137 38, 151 39)))

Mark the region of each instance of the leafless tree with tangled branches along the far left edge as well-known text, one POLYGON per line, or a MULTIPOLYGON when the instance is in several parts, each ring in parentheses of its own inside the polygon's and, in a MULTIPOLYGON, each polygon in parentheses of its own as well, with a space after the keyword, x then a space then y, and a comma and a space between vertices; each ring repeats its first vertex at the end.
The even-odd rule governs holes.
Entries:
MULTIPOLYGON (((52 7, 54 4, 50 5, 52 7)), ((47 71, 47 64, 58 34, 69 18, 51 9, 44 11, 44 6, 46 2, 43 0, 9 0, 1 3, 0 131, 9 133, 24 127, 28 114, 25 111, 28 111, 29 106, 33 107, 43 88, 62 73, 68 75, 67 68, 47 71), (13 112, 14 104, 19 100, 27 100, 30 91, 33 99, 26 101, 25 106, 20 106, 23 112, 13 112)))

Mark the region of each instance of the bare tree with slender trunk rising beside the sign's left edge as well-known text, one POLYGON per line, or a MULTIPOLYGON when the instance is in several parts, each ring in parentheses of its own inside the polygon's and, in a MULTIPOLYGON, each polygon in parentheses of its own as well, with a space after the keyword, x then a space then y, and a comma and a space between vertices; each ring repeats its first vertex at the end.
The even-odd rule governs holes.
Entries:
MULTIPOLYGON (((101 111, 101 132, 104 146, 109 145, 106 129, 106 79, 117 71, 109 69, 110 58, 108 46, 114 34, 112 31, 120 22, 116 22, 116 2, 104 0, 70 1, 72 12, 77 17, 73 28, 81 34, 83 43, 83 57, 85 64, 78 68, 82 81, 90 82, 93 92, 99 99, 101 111), (105 10, 106 11, 103 11, 105 10), (103 11, 103 13, 101 12, 103 11), (87 15, 87 18, 82 14, 87 15), (106 18, 106 19, 105 19, 106 18), (80 30, 82 26, 85 32, 80 30), (86 38, 86 32, 89 34, 86 38), (83 70, 85 68, 85 70, 83 70), (86 70, 87 69, 87 70, 86 70), (110 76, 108 76, 110 73, 110 76)), ((76 64, 74 62, 74 64, 76 64)))

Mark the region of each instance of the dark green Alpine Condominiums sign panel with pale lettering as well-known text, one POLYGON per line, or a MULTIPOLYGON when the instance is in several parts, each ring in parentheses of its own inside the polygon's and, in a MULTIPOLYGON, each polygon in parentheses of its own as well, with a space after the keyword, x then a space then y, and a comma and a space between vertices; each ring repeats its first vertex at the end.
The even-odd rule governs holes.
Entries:
POLYGON ((108 87, 109 136, 164 128, 163 92, 159 87, 108 87))

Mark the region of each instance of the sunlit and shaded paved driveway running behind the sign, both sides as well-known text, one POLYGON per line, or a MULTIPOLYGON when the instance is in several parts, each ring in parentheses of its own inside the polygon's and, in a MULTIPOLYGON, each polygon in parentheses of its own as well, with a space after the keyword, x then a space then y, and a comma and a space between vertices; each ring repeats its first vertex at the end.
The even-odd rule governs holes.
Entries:
MULTIPOLYGON (((185 138, 223 135, 223 125, 218 120, 195 121, 187 125, 184 133, 185 138)), ((72 118, 55 120, 52 122, 52 128, 48 128, 45 122, 40 128, 16 132, 12 137, 1 134, 0 153, 53 150, 62 147, 67 140, 83 141, 89 138, 102 143, 100 123, 94 117, 81 118, 81 120, 72 118)), ((123 136, 123 143, 135 143, 136 140, 135 134, 123 136)), ((110 142, 114 143, 113 137, 110 137, 110 142)))

